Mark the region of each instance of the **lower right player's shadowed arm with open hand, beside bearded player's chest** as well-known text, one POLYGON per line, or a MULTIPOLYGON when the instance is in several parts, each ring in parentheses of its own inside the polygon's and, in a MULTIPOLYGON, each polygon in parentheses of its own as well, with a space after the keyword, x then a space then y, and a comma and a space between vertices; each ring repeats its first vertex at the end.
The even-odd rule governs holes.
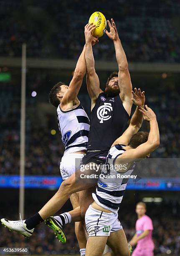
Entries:
POLYGON ((134 111, 134 114, 132 115, 132 118, 130 120, 130 124, 126 131, 120 136, 116 141, 114 141, 113 145, 116 144, 123 144, 128 145, 131 137, 133 134, 137 133, 139 129, 141 128, 142 121, 143 121, 143 114, 139 111, 139 108, 144 108, 145 105, 145 92, 141 92, 141 89, 134 88, 134 92, 132 91, 132 94, 134 98, 132 99, 132 102, 134 102, 134 105, 136 105, 136 110, 134 111))

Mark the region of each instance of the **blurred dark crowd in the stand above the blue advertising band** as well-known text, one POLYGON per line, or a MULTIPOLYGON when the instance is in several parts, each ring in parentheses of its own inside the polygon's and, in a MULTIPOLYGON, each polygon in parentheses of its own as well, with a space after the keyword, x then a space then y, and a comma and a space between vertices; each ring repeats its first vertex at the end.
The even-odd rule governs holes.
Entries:
MULTIPOLYGON (((9 85, 10 86, 10 85, 9 85)), ((3 86, 2 86, 3 88, 3 86)), ((142 87, 141 87, 142 88, 142 87)), ((180 157, 180 92, 179 88, 169 88, 160 86, 154 93, 154 87, 145 89, 147 104, 155 110, 160 128, 160 147, 152 154, 152 157, 160 158, 179 158, 180 157), (161 97, 159 97, 161 95, 161 97)), ((11 88, 5 86, 5 90, 11 91, 13 96, 7 96, 0 102, 1 134, 0 134, 0 174, 18 174, 19 173, 19 149, 20 149, 20 99, 16 87, 11 88), (16 96, 16 97, 15 97, 16 96), (6 101, 6 103, 4 102, 6 101), (3 103, 4 102, 4 103, 3 103), (5 110, 5 111, 4 111, 5 110)), ((6 91, 5 91, 6 92, 6 91)), ((5 94, 4 92, 4 94, 5 94)), ((2 89, 3 93, 3 89, 2 89)), ((82 96, 82 95, 81 95, 82 96)), ((32 98, 32 97, 31 97, 32 98)), ((47 98, 47 95, 46 95, 47 98)), ((61 135, 58 131, 56 121, 56 110, 54 116, 46 117, 46 127, 37 122, 38 117, 35 116, 35 102, 27 99, 27 115, 26 115, 26 161, 25 174, 31 175, 58 175, 59 163, 63 156, 64 147, 61 141, 61 135), (33 117, 29 111, 33 108, 33 117), (56 130, 55 135, 51 135, 51 129, 56 130)), ((81 103, 87 113, 86 97, 81 97, 81 103)), ((144 125, 143 130, 148 130, 144 125)), ((153 164, 153 162, 152 162, 153 164)), ((165 175, 163 169, 161 172, 155 172, 148 169, 147 175, 162 177, 165 175)), ((172 169, 166 176, 176 177, 176 169, 172 169)))

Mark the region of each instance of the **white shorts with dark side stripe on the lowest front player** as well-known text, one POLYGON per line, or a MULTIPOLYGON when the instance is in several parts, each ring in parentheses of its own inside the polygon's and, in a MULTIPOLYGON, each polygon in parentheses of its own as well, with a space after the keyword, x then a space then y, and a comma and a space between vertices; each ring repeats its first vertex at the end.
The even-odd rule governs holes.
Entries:
POLYGON ((121 230, 118 213, 101 212, 89 205, 85 215, 88 236, 110 236, 110 233, 121 230))

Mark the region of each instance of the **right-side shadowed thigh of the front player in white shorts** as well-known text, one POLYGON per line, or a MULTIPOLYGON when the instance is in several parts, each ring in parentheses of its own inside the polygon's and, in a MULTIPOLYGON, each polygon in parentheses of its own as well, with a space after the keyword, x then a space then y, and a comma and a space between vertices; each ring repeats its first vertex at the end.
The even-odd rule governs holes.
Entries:
POLYGON ((107 245, 112 249, 116 256, 130 255, 126 235, 123 229, 112 232, 108 237, 107 245))

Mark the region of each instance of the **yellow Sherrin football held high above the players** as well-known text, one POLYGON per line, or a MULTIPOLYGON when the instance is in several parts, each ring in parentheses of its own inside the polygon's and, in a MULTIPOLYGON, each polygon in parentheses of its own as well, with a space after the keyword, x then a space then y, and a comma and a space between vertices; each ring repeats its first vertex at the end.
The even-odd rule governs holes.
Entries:
POLYGON ((101 37, 104 35, 106 30, 106 18, 100 12, 95 12, 89 18, 89 23, 96 24, 96 27, 92 31, 93 36, 101 37))

